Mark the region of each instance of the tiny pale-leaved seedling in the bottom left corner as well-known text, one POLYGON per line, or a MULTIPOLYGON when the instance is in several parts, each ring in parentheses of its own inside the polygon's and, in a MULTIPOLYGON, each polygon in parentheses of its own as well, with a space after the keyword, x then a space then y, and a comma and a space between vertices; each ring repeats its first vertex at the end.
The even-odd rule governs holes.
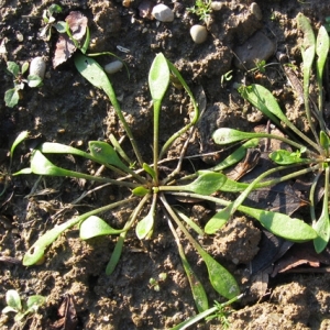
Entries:
POLYGON ((26 321, 24 319, 36 314, 45 301, 46 298, 40 295, 30 296, 26 301, 22 301, 16 290, 8 290, 6 294, 7 306, 2 309, 2 312, 15 312, 14 321, 23 327, 26 321))

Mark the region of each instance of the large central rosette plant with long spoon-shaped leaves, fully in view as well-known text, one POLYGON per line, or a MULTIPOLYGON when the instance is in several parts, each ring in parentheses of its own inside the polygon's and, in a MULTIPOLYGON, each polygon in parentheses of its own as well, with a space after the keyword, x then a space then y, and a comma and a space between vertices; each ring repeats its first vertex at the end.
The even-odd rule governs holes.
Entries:
MULTIPOLYGON (((85 42, 85 44, 87 44, 87 42, 85 42)), ((121 106, 118 102, 109 77, 106 75, 101 66, 92 58, 92 56, 99 54, 86 55, 85 51, 86 47, 84 47, 84 52, 81 50, 81 52, 77 52, 75 54, 74 61, 76 68, 82 77, 85 77, 95 87, 103 90, 103 92, 109 97, 113 110, 118 116, 127 136, 129 138, 134 153, 134 158, 131 160, 128 156, 128 153, 121 147, 113 135, 109 136, 109 143, 103 141, 90 141, 88 144, 88 152, 61 143, 45 142, 32 152, 30 167, 21 169, 15 173, 15 175, 35 174, 42 176, 82 178, 95 184, 99 184, 101 185, 100 187, 107 185, 119 186, 128 190, 129 197, 69 219, 41 235, 24 255, 23 264, 25 266, 36 264, 44 257, 46 249, 61 234, 77 226, 79 228, 79 235, 81 240, 89 240, 100 235, 117 235, 116 248, 106 267, 106 273, 111 275, 120 261, 128 232, 130 230, 134 230, 140 240, 151 239, 152 235, 155 234, 155 223, 162 219, 160 213, 163 213, 167 219, 169 230, 172 231, 177 244, 178 253, 190 284, 197 310, 202 312, 209 309, 207 294, 201 282, 198 279, 193 267, 188 263, 176 229, 179 229, 185 239, 190 242, 200 255, 206 265, 210 283, 219 295, 229 300, 234 298, 237 299, 240 295, 240 288, 235 278, 218 261, 208 254, 196 240, 196 237, 202 237, 205 233, 215 233, 218 230, 218 224, 216 227, 211 226, 211 228, 208 224, 204 230, 195 221, 193 221, 193 219, 187 217, 185 212, 170 205, 168 202, 168 196, 173 196, 177 199, 194 198, 198 200, 208 200, 224 207, 224 210, 228 208, 231 210, 239 210, 256 219, 274 234, 287 240, 305 242, 317 237, 315 230, 299 219, 292 219, 290 217, 284 216, 279 212, 244 207, 241 206, 241 204, 231 206, 230 201, 211 196, 218 190, 223 193, 238 193, 244 189, 244 191, 248 191, 248 189, 251 190, 249 185, 234 182, 221 172, 224 168, 240 162, 245 156, 246 151, 250 147, 257 145, 258 139, 250 139, 220 164, 209 170, 198 170, 191 175, 182 175, 183 160, 189 141, 187 140, 182 148, 182 154, 177 161, 176 168, 174 168, 172 173, 164 173, 162 170, 162 162, 173 143, 183 134, 188 132, 191 133, 199 120, 199 107, 193 92, 180 73, 169 61, 165 58, 162 53, 155 56, 148 73, 148 89, 153 102, 153 157, 152 161, 145 162, 132 134, 130 125, 125 120, 121 106), (160 145, 160 128, 162 123, 161 109, 163 99, 168 90, 170 75, 179 80, 189 96, 194 107, 194 116, 190 122, 170 135, 163 145, 160 145), (81 157, 82 160, 92 161, 94 163, 99 164, 100 167, 111 170, 117 177, 109 178, 106 175, 91 175, 59 167, 48 160, 47 155, 50 154, 73 155, 75 157, 81 157), (134 166, 132 166, 132 164, 134 164, 134 166), (134 208, 132 209, 132 212, 123 228, 113 228, 102 219, 102 213, 111 212, 118 208, 131 208, 132 206, 134 206, 134 208)), ((218 218, 217 213, 210 221, 212 222, 218 218)), ((224 224, 227 220, 222 221, 222 219, 220 219, 220 222, 224 224)))

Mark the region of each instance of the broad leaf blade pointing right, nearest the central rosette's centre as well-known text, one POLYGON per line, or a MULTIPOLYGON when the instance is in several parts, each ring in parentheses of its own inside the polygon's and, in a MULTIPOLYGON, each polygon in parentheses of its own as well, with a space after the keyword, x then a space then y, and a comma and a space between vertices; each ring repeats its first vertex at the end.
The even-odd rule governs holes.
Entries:
POLYGON ((186 186, 180 186, 182 190, 193 191, 195 194, 210 195, 221 189, 227 177, 221 173, 201 172, 196 180, 186 186))

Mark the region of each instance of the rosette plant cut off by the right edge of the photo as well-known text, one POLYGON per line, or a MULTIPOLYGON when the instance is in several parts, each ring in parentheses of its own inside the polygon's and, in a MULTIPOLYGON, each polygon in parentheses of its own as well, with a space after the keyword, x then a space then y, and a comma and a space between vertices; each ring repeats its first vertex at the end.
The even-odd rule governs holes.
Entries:
MULTIPOLYGON (((297 129, 280 110, 276 99, 261 85, 242 86, 239 91, 242 97, 250 101, 254 107, 268 117, 278 128, 282 128, 289 138, 283 138, 275 134, 267 133, 248 133, 233 129, 221 128, 217 130, 212 138, 216 143, 226 145, 238 141, 250 139, 275 139, 285 142, 292 150, 277 150, 270 154, 271 160, 276 164, 260 175, 252 182, 245 190, 233 202, 230 202, 224 209, 219 211, 213 219, 211 219, 205 230, 207 233, 213 232, 221 228, 222 223, 234 213, 239 206, 248 197, 248 195, 260 187, 270 187, 280 182, 294 179, 298 176, 306 176, 309 173, 315 174, 309 194, 311 223, 317 235, 314 238, 314 244, 317 252, 321 252, 328 244, 330 238, 329 226, 329 163, 330 163, 330 138, 329 129, 323 120, 323 95, 322 95, 322 76, 326 65, 326 59, 329 52, 329 35, 324 26, 318 31, 317 38, 315 37, 311 25, 306 16, 301 13, 297 15, 297 22, 300 31, 304 33, 304 43, 301 46, 302 55, 302 74, 304 74, 304 101, 306 118, 311 131, 311 136, 302 133, 297 129), (315 65, 315 66, 314 66, 315 65), (311 72, 315 67, 316 84, 318 87, 318 101, 314 102, 309 96, 309 85, 311 72), (301 169, 299 169, 299 167, 301 169), (264 180, 273 173, 290 169, 290 174, 283 175, 276 179, 264 180), (321 212, 317 218, 316 212, 316 188, 321 176, 324 176, 323 201, 321 212)), ((279 216, 280 217, 280 216, 279 216)), ((287 215, 289 226, 289 219, 287 215)), ((295 229, 293 229, 295 233, 295 229)), ((293 238, 293 241, 295 239, 293 238)))

